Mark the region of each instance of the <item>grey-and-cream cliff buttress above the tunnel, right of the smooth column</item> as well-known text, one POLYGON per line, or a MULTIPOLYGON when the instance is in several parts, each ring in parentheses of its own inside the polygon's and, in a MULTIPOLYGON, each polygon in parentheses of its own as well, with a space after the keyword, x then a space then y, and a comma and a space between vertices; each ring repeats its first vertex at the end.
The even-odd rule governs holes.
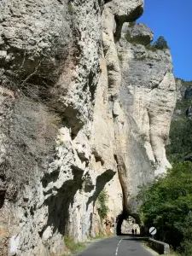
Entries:
POLYGON ((138 186, 171 167, 166 160, 165 146, 176 89, 169 50, 154 52, 142 44, 130 44, 124 34, 117 49, 122 74, 119 87, 122 107, 119 106, 119 115, 115 113, 119 173, 127 212, 134 216, 133 198, 138 186))

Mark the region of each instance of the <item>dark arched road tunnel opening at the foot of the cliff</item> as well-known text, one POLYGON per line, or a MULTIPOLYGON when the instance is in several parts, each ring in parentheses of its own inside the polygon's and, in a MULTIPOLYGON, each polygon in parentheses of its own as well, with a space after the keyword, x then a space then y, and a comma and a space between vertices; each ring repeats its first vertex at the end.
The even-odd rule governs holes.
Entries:
POLYGON ((140 235, 140 226, 137 223, 137 219, 127 214, 121 213, 116 219, 116 235, 140 235))

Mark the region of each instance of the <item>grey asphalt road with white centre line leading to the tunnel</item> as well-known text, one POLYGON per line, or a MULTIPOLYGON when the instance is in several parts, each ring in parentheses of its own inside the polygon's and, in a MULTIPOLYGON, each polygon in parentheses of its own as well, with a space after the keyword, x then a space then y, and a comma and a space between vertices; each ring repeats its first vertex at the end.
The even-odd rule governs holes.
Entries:
POLYGON ((96 241, 78 256, 152 256, 139 238, 134 236, 111 236, 96 241))

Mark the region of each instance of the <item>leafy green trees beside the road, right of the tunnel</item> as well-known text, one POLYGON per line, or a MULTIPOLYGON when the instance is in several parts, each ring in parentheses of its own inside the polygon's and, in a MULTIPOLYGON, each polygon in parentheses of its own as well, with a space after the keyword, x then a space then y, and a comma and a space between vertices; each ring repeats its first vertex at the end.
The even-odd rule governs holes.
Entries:
POLYGON ((156 238, 166 241, 183 256, 192 255, 192 163, 173 166, 166 177, 143 187, 138 200, 143 224, 155 226, 156 238))

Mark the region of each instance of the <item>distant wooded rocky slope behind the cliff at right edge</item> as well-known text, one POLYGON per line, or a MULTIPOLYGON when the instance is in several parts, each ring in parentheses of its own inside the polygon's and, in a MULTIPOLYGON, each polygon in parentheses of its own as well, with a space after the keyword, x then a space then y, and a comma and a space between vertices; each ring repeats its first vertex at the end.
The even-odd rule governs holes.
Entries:
POLYGON ((192 155, 192 81, 176 79, 177 103, 172 115, 170 143, 166 153, 172 163, 190 160, 192 155))

